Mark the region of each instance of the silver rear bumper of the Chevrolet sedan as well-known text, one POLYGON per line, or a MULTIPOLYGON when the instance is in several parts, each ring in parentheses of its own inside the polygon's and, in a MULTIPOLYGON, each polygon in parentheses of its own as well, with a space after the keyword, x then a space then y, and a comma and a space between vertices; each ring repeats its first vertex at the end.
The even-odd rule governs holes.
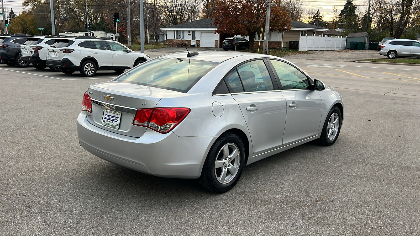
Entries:
POLYGON ((179 137, 147 129, 140 138, 92 125, 84 112, 77 118, 80 146, 111 163, 142 173, 170 178, 198 178, 214 137, 179 137))

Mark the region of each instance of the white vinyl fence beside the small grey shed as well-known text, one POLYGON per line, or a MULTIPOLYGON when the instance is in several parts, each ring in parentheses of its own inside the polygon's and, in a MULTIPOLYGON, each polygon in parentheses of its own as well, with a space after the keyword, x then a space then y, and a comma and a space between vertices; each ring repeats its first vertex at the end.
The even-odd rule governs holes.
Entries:
POLYGON ((321 37, 302 36, 299 37, 299 51, 311 50, 343 50, 346 49, 346 37, 321 37))

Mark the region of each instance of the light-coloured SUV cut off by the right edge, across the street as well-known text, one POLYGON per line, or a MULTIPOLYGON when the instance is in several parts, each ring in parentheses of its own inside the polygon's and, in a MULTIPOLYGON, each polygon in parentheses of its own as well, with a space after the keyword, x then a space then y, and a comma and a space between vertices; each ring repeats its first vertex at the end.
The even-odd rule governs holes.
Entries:
POLYGON ((388 59, 397 57, 420 57, 420 42, 412 39, 393 39, 381 46, 379 54, 388 59))

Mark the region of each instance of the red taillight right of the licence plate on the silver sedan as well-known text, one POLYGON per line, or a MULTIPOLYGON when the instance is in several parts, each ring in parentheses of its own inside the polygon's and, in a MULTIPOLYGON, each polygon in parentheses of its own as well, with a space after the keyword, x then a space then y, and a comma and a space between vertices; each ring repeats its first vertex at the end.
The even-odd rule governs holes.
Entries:
POLYGON ((177 126, 190 112, 189 108, 148 108, 139 109, 133 125, 145 126, 166 134, 177 126))

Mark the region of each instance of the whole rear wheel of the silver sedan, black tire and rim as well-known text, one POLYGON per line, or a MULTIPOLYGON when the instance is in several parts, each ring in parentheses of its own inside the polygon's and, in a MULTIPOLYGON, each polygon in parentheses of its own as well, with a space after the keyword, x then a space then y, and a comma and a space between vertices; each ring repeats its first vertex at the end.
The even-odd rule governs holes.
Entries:
POLYGON ((224 193, 231 190, 245 166, 245 148, 241 138, 232 132, 222 134, 210 148, 198 179, 205 189, 224 193))

